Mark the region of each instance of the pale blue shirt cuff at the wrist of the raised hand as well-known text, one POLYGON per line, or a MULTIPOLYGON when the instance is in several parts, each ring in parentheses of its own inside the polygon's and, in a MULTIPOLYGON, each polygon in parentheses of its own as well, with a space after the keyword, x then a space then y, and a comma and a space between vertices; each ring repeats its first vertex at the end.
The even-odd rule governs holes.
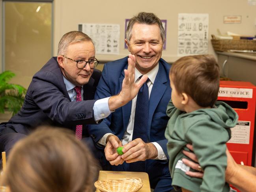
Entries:
POLYGON ((93 105, 93 114, 94 114, 95 121, 106 118, 107 116, 110 115, 111 111, 109 110, 109 107, 108 107, 109 98, 110 97, 106 97, 106 98, 95 101, 93 105))

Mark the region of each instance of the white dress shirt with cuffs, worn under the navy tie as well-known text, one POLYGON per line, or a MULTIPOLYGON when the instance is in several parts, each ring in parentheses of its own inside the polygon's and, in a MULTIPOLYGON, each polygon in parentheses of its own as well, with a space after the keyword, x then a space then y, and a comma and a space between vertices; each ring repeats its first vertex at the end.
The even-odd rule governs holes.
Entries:
MULTIPOLYGON (((152 69, 151 71, 149 71, 147 74, 149 81, 147 83, 148 85, 148 91, 149 91, 149 97, 150 97, 150 93, 153 87, 153 83, 155 82, 155 77, 157 76, 157 72, 159 69, 159 65, 155 66, 154 69, 152 69)), ((139 81, 139 77, 142 74, 135 68, 135 82, 139 81)), ((129 119, 129 123, 127 126, 127 129, 123 135, 123 138, 121 139, 121 142, 123 145, 127 144, 128 142, 131 142, 133 139, 133 126, 134 126, 134 118, 135 118, 135 108, 136 108, 136 101, 137 101, 137 96, 132 100, 132 106, 131 106, 131 116, 129 119)), ((110 135, 112 133, 107 133, 105 134, 99 141, 98 144, 101 145, 106 145, 106 140, 108 135, 110 135)), ((157 142, 152 142, 153 145, 155 145, 155 147, 157 148, 157 157, 155 159, 158 160, 166 160, 167 157, 162 149, 162 147, 157 143, 157 142)))

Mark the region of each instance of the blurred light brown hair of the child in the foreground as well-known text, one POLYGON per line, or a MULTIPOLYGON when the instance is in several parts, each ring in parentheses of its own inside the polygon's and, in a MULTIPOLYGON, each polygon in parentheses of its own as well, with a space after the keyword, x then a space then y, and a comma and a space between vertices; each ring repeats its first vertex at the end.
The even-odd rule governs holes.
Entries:
POLYGON ((71 130, 41 127, 15 144, 2 182, 11 192, 90 192, 96 162, 71 130))

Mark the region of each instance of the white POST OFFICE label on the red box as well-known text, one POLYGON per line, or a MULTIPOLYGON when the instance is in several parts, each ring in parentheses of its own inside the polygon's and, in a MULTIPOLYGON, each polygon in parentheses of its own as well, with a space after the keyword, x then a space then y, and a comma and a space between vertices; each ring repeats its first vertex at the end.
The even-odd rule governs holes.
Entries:
POLYGON ((252 89, 220 87, 218 97, 252 98, 252 89))

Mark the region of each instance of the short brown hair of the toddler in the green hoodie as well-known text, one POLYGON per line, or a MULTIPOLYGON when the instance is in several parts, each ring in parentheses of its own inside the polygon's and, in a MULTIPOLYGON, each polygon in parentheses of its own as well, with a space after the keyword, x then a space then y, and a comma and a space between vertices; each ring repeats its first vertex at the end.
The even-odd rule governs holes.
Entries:
POLYGON ((170 81, 177 95, 185 93, 198 106, 212 107, 219 92, 219 65, 212 55, 185 56, 172 64, 170 81))

